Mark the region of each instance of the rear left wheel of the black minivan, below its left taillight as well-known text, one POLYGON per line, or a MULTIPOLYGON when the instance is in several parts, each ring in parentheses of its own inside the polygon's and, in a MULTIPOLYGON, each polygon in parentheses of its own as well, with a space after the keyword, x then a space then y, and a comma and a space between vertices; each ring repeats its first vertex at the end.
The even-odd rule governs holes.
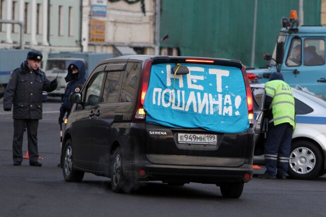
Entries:
POLYGON ((120 147, 117 147, 112 155, 111 187, 116 193, 129 193, 133 187, 123 174, 123 158, 120 147))

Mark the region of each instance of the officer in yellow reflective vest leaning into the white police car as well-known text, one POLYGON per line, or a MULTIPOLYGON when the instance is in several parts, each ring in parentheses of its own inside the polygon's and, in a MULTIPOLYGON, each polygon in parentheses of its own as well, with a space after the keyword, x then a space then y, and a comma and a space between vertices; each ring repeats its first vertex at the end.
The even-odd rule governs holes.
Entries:
POLYGON ((283 75, 278 72, 271 74, 265 84, 265 91, 264 108, 268 116, 268 132, 264 146, 266 171, 258 177, 286 179, 295 127, 293 92, 284 82, 283 75))

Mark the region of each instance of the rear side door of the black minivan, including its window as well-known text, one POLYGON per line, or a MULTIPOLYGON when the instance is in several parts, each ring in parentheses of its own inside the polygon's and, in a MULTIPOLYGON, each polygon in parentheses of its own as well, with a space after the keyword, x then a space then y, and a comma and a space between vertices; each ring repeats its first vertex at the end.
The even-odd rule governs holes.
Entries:
POLYGON ((106 77, 101 102, 94 110, 92 170, 109 171, 111 145, 118 133, 111 126, 119 100, 125 65, 125 63, 114 63, 108 64, 105 68, 106 77))

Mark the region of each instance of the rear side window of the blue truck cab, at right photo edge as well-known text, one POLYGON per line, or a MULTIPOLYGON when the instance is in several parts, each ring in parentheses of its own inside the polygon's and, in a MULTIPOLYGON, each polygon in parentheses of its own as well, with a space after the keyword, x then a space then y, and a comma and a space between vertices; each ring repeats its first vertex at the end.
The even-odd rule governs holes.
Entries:
POLYGON ((305 66, 325 64, 325 41, 323 39, 305 39, 303 60, 305 66))

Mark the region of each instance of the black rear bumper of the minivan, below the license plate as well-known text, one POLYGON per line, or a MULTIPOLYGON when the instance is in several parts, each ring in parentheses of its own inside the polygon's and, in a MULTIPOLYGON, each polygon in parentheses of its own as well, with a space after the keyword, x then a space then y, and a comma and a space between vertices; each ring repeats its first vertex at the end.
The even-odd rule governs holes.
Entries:
POLYGON ((160 180, 163 182, 178 181, 211 184, 248 182, 253 174, 252 164, 243 164, 241 167, 213 167, 124 163, 123 170, 126 177, 137 177, 139 181, 160 180), (139 175, 139 170, 142 169, 145 173, 139 175), (249 174, 249 180, 244 178, 245 174, 249 174))

